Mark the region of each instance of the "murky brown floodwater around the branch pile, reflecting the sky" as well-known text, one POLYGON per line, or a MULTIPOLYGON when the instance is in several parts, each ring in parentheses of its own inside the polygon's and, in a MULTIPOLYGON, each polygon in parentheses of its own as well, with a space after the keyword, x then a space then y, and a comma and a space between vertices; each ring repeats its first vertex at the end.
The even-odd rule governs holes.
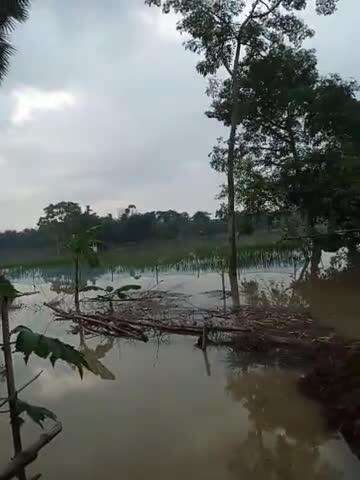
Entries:
MULTIPOLYGON (((11 312, 12 326, 61 337, 79 347, 67 323, 53 322, 41 304, 57 293, 59 272, 37 272, 15 279, 25 307, 11 312)), ((70 274, 62 277, 66 283, 70 274)), ((68 272, 69 273, 69 272, 68 272)), ((246 271, 246 280, 288 285, 293 267, 246 271)), ((93 273, 97 285, 121 285, 122 273, 93 273)), ((218 273, 161 273, 158 288, 189 294, 192 306, 219 303, 218 273)), ((136 283, 154 286, 153 273, 136 283)), ((134 283, 134 279, 131 279, 134 283)), ((243 301, 247 301, 243 295, 243 301)), ((324 320, 324 319, 323 319, 324 320)), ((325 320, 324 320, 325 321, 325 320)), ((53 369, 31 357, 28 366, 14 355, 16 383, 43 370, 21 398, 54 411, 63 432, 27 469, 63 480, 206 479, 332 480, 360 476, 360 462, 336 433, 327 430, 320 408, 297 390, 299 371, 265 365, 222 349, 207 358, 192 338, 170 338, 160 345, 92 338, 85 354, 98 375, 81 380, 65 364, 53 369)), ((0 383, 0 396, 6 396, 0 383)), ((39 429, 27 420, 23 444, 39 429)), ((8 415, 0 415, 0 464, 12 455, 8 415)))

